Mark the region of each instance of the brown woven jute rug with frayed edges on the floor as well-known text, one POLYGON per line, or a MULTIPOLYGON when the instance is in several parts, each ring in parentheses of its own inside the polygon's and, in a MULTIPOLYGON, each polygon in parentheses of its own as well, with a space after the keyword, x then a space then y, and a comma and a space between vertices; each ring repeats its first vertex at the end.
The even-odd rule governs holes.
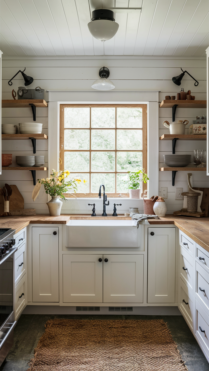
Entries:
POLYGON ((163 319, 51 319, 28 371, 187 370, 163 319))

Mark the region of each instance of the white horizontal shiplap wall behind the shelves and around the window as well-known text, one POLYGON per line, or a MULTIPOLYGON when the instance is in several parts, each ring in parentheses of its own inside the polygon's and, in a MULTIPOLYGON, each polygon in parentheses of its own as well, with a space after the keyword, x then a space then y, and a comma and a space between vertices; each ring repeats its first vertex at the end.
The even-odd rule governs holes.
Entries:
MULTIPOLYGON (((23 80, 17 76, 13 80, 12 87, 8 85, 8 80, 15 75, 17 70, 26 67, 26 74, 34 78, 29 88, 41 86, 46 90, 90 90, 94 80, 98 78, 99 69, 106 66, 110 69, 109 79, 113 81, 119 91, 133 90, 159 90, 159 100, 162 101, 165 95, 176 95, 180 88, 184 91, 191 90, 196 99, 206 99, 206 58, 170 58, 170 57, 4 57, 2 61, 2 99, 12 99, 12 89, 17 90, 18 86, 23 85, 23 80), (172 77, 180 74, 180 67, 194 76, 199 81, 197 87, 194 81, 185 75, 178 87, 172 82, 172 77)), ((107 92, 108 94, 108 92, 107 92)), ((110 96, 111 97, 111 96, 110 96)), ((110 98, 111 99, 111 98, 110 98)), ((45 93, 45 100, 48 94, 45 93)), ((206 114, 206 109, 178 109, 176 110, 176 120, 188 119, 189 125, 197 115, 206 114)), ((48 133, 48 109, 36 109, 36 122, 43 124, 43 132, 48 133)), ((163 126, 163 121, 172 121, 171 109, 159 109, 159 137, 162 134, 169 134, 169 129, 163 126)), ((2 122, 14 123, 31 122, 32 111, 30 108, 3 108, 2 122)), ((156 138, 158 140, 158 138, 156 138)), ((37 155, 45 155, 47 166, 48 141, 40 140, 37 143, 37 155)), ((152 145, 149 143, 149 145, 152 145)), ((194 148, 206 149, 206 141, 177 141, 176 154, 189 153, 193 155, 194 148)), ((15 156, 22 153, 33 155, 32 144, 30 141, 3 141, 3 153, 12 153, 13 162, 15 156)), ((160 141, 159 162, 163 166, 163 154, 171 153, 171 141, 160 141)), ((15 164, 13 164, 15 165, 15 164)), ((189 172, 189 169, 188 169, 189 172)), ((171 172, 159 172, 159 191, 161 187, 168 187, 167 213, 181 209, 183 201, 175 200, 175 188, 182 187, 187 191, 187 172, 179 171, 176 174, 175 186, 171 183, 171 172)), ((148 174, 151 178, 152 174, 148 174)), ((36 171, 36 179, 47 176, 46 171, 36 171)), ((3 171, 1 175, 1 185, 5 182, 16 184, 25 200, 25 208, 35 207, 37 213, 47 213, 47 196, 41 188, 38 198, 33 203, 31 196, 33 190, 32 175, 29 171, 3 171)), ((205 172, 193 172, 194 187, 209 187, 208 177, 205 172)), ((159 195, 161 193, 159 192, 159 195)), ((152 195, 150 195, 152 196, 152 195)), ((86 204, 86 201, 85 201, 86 204)), ((82 207, 83 209, 83 207, 82 207)), ((120 209, 118 209, 120 210, 120 209)), ((78 212, 71 210, 69 212, 78 212)), ((87 211, 87 210, 86 210, 87 211)), ((66 212, 66 210, 64 211, 66 212)), ((89 210, 87 211, 89 212, 89 210)))

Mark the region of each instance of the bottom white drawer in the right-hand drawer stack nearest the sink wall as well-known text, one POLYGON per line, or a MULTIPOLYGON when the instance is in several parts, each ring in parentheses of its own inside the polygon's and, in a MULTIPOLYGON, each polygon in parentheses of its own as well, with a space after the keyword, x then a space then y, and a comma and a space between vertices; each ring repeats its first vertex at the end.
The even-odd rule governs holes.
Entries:
POLYGON ((191 291, 187 288, 182 279, 180 279, 180 309, 187 322, 189 322, 192 331, 194 331, 193 300, 194 297, 191 291))

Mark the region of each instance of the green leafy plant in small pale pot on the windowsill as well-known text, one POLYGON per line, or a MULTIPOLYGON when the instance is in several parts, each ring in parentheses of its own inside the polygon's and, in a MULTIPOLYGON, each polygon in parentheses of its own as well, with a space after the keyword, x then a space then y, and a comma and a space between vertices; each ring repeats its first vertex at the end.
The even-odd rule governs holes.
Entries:
POLYGON ((140 198, 139 191, 141 188, 141 181, 144 183, 147 183, 149 180, 147 174, 145 173, 145 170, 139 170, 136 172, 128 171, 128 181, 126 181, 126 184, 128 185, 129 189, 129 197, 130 198, 140 198), (142 177, 141 177, 142 174, 142 177))

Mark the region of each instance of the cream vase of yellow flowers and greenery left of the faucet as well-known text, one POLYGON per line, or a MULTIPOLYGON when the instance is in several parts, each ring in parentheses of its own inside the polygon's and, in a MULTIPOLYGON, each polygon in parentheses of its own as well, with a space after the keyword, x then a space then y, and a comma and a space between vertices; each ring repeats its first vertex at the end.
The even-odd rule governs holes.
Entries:
MULTIPOLYGON (((38 179, 38 183, 33 190, 32 199, 35 201, 39 194, 41 184, 44 184, 46 193, 52 197, 52 199, 46 203, 51 216, 60 215, 62 207, 62 201, 60 201, 60 198, 66 200, 64 193, 69 191, 75 193, 77 191, 77 184, 81 182, 80 178, 66 181, 68 175, 70 175, 70 172, 67 170, 55 171, 52 169, 51 178, 38 179)), ((86 183, 86 180, 83 182, 86 183)))

